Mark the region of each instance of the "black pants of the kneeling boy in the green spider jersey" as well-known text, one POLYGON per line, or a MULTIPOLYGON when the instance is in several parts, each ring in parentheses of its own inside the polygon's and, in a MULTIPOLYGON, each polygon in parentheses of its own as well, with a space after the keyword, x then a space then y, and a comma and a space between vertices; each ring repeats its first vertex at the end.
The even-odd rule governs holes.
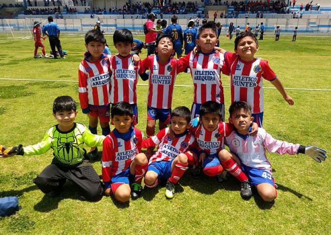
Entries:
POLYGON ((77 185, 87 200, 99 201, 104 194, 99 175, 92 166, 67 168, 51 164, 33 182, 43 193, 49 193, 61 190, 67 180, 77 185))

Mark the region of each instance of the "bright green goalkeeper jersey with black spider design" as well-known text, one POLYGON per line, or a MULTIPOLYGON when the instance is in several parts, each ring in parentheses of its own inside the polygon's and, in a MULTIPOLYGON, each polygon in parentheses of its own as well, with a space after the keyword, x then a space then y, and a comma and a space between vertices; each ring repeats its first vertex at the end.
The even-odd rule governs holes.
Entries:
POLYGON ((24 147, 24 156, 44 154, 52 148, 53 163, 79 166, 87 160, 84 143, 88 147, 101 146, 105 139, 105 136, 92 134, 85 125, 80 123, 75 123, 67 132, 60 131, 57 126, 52 126, 41 142, 24 147))

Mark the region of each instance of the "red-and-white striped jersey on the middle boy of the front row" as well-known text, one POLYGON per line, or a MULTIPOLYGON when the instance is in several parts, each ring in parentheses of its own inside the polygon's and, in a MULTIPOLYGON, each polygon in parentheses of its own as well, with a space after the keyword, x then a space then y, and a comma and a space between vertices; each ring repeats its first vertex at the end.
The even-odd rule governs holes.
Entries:
POLYGON ((156 136, 142 141, 142 148, 158 145, 157 152, 149 159, 150 163, 155 161, 171 161, 179 154, 186 152, 194 143, 194 136, 189 131, 179 137, 175 137, 173 140, 168 137, 168 132, 169 127, 160 130, 156 136))

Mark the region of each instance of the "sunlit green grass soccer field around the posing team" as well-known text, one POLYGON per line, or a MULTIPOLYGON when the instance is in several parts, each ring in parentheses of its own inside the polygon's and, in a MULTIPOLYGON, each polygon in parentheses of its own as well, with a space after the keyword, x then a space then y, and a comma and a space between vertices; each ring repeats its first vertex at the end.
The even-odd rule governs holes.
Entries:
MULTIPOLYGON (((143 40, 142 36, 137 38, 143 40)), ((85 51, 83 35, 61 35, 65 60, 34 59, 33 39, 7 40, 0 34, 0 143, 29 145, 42 140, 56 124, 52 102, 71 95, 78 103, 78 65, 85 51), (8 80, 36 79, 33 80, 8 80), (60 81, 42 81, 60 80, 60 81)), ((112 54, 112 37, 106 35, 112 54)), ((264 90, 263 127, 275 139, 317 145, 331 151, 331 37, 265 36, 256 56, 268 60, 295 105, 289 106, 275 89, 264 90)), ((221 47, 233 51, 233 41, 220 37, 221 47)), ((44 41, 50 52, 48 40, 44 41)), ((41 53, 41 49, 39 50, 41 53)), ((145 58, 146 50, 140 55, 145 58)), ((222 75, 226 110, 229 77, 222 75)), ((137 87, 139 125, 145 132, 147 82, 137 87)), ((192 105, 192 78, 179 74, 173 108, 192 105)), ((272 88, 268 81, 264 88, 272 88)), ((226 120, 228 112, 226 111, 226 120)), ((76 121, 88 124, 79 109, 76 121)), ((99 127, 98 132, 101 133, 99 127)), ((88 148, 87 148, 88 150, 88 148)), ((100 148, 101 150, 101 148, 100 148)), ((330 154, 329 154, 330 155, 330 154)), ((330 234, 331 162, 320 164, 305 155, 267 154, 278 198, 264 203, 259 195, 245 201, 233 177, 219 184, 213 178, 191 178, 188 170, 167 200, 164 186, 144 188, 142 197, 119 204, 112 197, 81 201, 67 182, 58 198, 45 196, 32 179, 52 161, 42 156, 0 158, 0 197, 18 196, 22 209, 0 219, 0 234, 330 234)), ((101 175, 100 162, 93 163, 101 175)))

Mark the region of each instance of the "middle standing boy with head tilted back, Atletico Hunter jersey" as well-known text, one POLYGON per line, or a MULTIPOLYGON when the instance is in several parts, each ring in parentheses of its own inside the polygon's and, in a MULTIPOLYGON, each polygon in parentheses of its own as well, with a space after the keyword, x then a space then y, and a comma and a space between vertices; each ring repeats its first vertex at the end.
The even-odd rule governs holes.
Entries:
MULTIPOLYGON (((156 41, 156 55, 144 59, 141 66, 149 70, 147 94, 147 126, 148 137, 155 133, 156 120, 159 120, 159 129, 167 127, 170 121, 171 103, 174 91, 174 82, 180 72, 186 67, 183 63, 171 56, 174 53, 174 39, 169 34, 162 34, 156 41)), ((142 78, 145 80, 145 78, 142 78)))

